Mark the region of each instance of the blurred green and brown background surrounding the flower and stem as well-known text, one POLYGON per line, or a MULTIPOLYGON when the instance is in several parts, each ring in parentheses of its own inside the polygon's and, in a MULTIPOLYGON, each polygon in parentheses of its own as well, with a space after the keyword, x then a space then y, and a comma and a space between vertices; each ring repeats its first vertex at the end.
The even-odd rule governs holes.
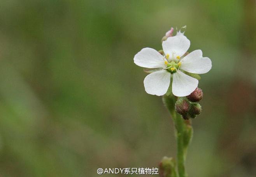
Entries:
POLYGON ((175 156, 170 115, 133 57, 184 25, 213 65, 188 174, 254 177, 255 0, 1 0, 0 176, 96 177, 175 156))

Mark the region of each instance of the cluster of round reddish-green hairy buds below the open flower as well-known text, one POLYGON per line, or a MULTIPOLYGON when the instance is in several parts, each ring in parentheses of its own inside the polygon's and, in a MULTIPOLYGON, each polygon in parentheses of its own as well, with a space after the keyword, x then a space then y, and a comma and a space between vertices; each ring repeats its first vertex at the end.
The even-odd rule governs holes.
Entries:
POLYGON ((190 95, 186 97, 179 97, 175 103, 175 110, 182 115, 183 119, 195 118, 201 114, 202 107, 199 103, 203 98, 203 91, 200 88, 196 88, 190 95))

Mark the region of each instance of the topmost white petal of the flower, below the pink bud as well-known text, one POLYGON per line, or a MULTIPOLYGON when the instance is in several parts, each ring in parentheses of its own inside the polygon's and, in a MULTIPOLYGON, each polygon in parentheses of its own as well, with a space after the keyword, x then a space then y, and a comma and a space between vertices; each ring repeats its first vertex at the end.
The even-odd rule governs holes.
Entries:
POLYGON ((174 54, 174 57, 176 56, 182 56, 186 51, 188 51, 188 48, 190 46, 190 41, 188 38, 184 35, 176 35, 174 37, 168 37, 167 40, 163 41, 162 47, 165 54, 169 54, 172 56, 174 54))

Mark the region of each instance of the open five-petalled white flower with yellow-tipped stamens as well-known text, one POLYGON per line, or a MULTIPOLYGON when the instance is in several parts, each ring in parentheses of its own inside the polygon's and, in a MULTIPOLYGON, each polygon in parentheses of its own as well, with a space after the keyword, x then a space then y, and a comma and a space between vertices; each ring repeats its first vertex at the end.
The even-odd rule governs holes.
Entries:
POLYGON ((212 68, 210 58, 203 57, 201 50, 195 50, 188 55, 190 41, 183 33, 169 37, 163 41, 162 47, 165 53, 162 56, 158 51, 144 48, 134 56, 134 63, 144 68, 157 68, 144 79, 144 87, 151 95, 164 95, 172 77, 172 93, 175 96, 187 96, 198 86, 198 80, 184 74, 183 71, 204 74, 212 68))

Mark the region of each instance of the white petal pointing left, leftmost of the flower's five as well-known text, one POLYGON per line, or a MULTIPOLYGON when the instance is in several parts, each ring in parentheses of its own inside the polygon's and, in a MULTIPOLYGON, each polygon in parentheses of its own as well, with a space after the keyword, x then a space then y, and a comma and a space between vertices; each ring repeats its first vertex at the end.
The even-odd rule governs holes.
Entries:
POLYGON ((144 68, 163 68, 165 63, 163 56, 151 48, 144 48, 134 56, 134 63, 144 68))

